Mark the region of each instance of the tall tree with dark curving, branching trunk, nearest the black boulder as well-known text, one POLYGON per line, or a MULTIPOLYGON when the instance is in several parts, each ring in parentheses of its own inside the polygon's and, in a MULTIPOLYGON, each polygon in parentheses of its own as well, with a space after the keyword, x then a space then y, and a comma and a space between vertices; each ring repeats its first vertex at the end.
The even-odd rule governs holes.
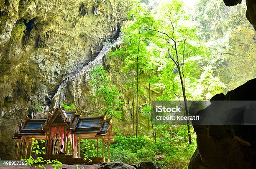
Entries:
MULTIPOLYGON (((190 60, 189 62, 189 58, 202 55, 205 48, 198 42, 196 29, 191 25, 186 25, 189 18, 185 15, 183 7, 183 3, 177 0, 160 4, 152 12, 152 15, 146 16, 144 20, 147 20, 147 29, 157 33, 156 37, 160 39, 160 45, 166 48, 168 58, 177 68, 185 112, 189 116, 185 84, 186 77, 192 73, 191 64, 193 61, 190 60)), ((187 120, 187 132, 189 144, 191 144, 189 120, 187 120)))

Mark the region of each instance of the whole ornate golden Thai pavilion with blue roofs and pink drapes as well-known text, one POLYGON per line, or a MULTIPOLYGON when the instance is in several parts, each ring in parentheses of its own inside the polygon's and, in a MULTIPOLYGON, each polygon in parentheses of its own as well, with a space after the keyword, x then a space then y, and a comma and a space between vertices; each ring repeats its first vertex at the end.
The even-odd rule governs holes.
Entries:
POLYGON ((97 156, 89 157, 90 164, 98 164, 101 161, 110 161, 109 146, 114 141, 113 129, 110 119, 106 115, 82 117, 82 111, 64 111, 60 106, 49 112, 47 119, 21 119, 18 131, 15 131, 13 139, 16 139, 16 159, 27 158, 32 154, 33 139, 45 140, 44 159, 58 159, 63 164, 85 164, 84 157, 80 157, 80 143, 82 139, 97 140, 97 156), (108 159, 99 156, 99 140, 102 145, 108 143, 108 159), (69 150, 67 145, 71 146, 69 150))

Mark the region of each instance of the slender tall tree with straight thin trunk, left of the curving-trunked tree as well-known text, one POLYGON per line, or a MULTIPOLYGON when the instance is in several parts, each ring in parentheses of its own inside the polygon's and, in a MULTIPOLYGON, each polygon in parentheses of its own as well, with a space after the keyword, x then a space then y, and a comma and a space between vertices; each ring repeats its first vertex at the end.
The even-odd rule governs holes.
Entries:
POLYGON ((138 0, 131 1, 131 10, 128 13, 129 22, 123 28, 123 41, 127 45, 126 66, 135 67, 136 71, 136 136, 138 136, 138 97, 139 97, 139 75, 146 61, 146 42, 148 31, 141 18, 148 13, 146 5, 138 0))

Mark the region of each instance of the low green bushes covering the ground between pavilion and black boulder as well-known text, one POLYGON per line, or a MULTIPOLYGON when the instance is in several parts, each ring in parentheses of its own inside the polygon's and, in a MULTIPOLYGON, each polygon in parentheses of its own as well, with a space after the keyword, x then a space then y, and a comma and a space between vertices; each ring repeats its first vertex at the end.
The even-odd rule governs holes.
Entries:
POLYGON ((110 160, 123 161, 127 164, 152 161, 162 169, 183 169, 188 166, 197 147, 194 131, 192 131, 193 144, 187 144, 186 129, 186 125, 159 127, 157 135, 163 130, 166 130, 166 133, 165 138, 164 136, 157 138, 156 144, 152 138, 146 136, 136 138, 115 136, 115 143, 110 147, 110 160))

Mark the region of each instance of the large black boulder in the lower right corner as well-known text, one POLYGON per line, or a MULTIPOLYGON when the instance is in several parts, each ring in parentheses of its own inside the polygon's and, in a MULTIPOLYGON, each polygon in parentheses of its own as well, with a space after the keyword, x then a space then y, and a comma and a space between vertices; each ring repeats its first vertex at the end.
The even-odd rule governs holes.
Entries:
MULTIPOLYGON (((256 100, 255 86, 256 78, 226 95, 218 94, 212 100, 256 100)), ((200 113, 204 113, 204 110, 200 113)), ((195 125, 194 129, 198 147, 189 163, 189 169, 256 168, 255 125, 195 125)))

